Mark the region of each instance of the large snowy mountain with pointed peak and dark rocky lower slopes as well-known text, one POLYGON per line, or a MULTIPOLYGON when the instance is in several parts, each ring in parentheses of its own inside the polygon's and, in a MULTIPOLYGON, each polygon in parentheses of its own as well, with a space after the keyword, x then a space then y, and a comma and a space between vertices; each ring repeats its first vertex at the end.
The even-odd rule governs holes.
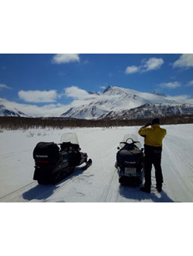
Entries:
POLYGON ((93 102, 69 109, 62 116, 76 119, 126 119, 127 116, 136 119, 144 117, 144 114, 154 116, 157 113, 158 116, 165 116, 180 112, 193 113, 193 106, 182 105, 157 92, 137 92, 128 88, 109 86, 102 94, 97 93, 93 102))

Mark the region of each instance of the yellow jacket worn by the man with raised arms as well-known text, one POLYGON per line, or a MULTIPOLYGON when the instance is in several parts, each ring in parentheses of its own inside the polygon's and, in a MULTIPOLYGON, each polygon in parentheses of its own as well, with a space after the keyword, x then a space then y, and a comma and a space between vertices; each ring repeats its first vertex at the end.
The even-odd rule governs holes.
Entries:
POLYGON ((151 128, 141 127, 139 134, 145 137, 144 144, 152 147, 161 147, 167 131, 162 129, 159 124, 154 124, 151 128))

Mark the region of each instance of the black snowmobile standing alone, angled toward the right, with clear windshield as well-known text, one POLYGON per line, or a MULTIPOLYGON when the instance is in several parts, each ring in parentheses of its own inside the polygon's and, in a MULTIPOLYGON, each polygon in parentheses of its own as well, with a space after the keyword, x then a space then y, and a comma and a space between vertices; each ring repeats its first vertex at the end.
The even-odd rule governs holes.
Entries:
POLYGON ((86 153, 80 152, 80 144, 76 133, 64 133, 60 144, 40 142, 33 151, 35 172, 33 179, 40 185, 55 185, 73 173, 76 166, 83 163, 85 171, 92 164, 86 153))

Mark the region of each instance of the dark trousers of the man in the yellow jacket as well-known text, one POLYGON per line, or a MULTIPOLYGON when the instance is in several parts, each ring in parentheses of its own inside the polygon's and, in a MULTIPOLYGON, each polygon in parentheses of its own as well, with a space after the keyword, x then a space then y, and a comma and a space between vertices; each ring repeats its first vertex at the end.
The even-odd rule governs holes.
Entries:
POLYGON ((144 145, 144 153, 145 153, 145 163, 144 163, 145 187, 147 189, 151 189, 151 170, 152 170, 152 165, 154 164, 157 188, 162 188, 162 184, 164 182, 162 169, 161 169, 162 147, 151 147, 151 146, 144 145))

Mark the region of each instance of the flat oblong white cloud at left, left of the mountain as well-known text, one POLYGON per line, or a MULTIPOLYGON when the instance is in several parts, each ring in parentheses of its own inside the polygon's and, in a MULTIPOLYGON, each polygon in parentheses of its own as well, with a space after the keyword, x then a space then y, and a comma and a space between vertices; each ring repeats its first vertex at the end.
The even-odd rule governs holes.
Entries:
POLYGON ((56 102, 57 92, 51 91, 19 91, 19 98, 25 102, 56 102))

